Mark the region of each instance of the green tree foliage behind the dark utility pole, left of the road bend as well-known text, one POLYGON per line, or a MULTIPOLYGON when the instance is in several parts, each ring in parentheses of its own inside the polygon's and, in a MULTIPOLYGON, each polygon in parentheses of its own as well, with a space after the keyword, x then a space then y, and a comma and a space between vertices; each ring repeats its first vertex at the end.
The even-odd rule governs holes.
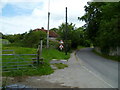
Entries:
POLYGON ((68 44, 67 49, 68 51, 71 48, 77 48, 77 46, 89 46, 89 42, 86 39, 86 33, 82 27, 76 28, 75 24, 68 23, 67 24, 67 31, 66 31, 66 24, 62 23, 56 32, 60 35, 58 40, 63 40, 65 43, 68 44))

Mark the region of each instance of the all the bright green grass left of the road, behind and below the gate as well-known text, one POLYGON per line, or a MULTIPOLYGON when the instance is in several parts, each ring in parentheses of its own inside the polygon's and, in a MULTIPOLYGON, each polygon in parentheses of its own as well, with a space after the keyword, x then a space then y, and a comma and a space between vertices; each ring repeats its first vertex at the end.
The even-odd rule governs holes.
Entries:
MULTIPOLYGON (((36 48, 25 48, 25 47, 8 47, 3 46, 2 50, 14 50, 14 51, 3 51, 3 54, 18 54, 17 56, 2 56, 2 64, 6 66, 7 69, 10 65, 26 65, 32 64, 30 62, 23 61, 32 61, 31 58, 36 58, 36 56, 20 56, 19 54, 36 54, 36 48), (20 64, 16 63, 4 63, 4 62, 20 62, 20 64)), ((44 64, 40 64, 39 66, 29 65, 26 66, 25 69, 19 69, 16 71, 11 70, 11 72, 4 72, 3 76, 31 76, 31 75, 47 75, 53 73, 54 71, 50 67, 49 61, 52 59, 68 59, 70 57, 70 53, 65 55, 64 52, 58 51, 56 49, 43 49, 42 57, 44 58, 44 64)), ((11 68, 17 68, 18 66, 10 66, 11 68)), ((21 66, 19 66, 21 67, 21 66)))

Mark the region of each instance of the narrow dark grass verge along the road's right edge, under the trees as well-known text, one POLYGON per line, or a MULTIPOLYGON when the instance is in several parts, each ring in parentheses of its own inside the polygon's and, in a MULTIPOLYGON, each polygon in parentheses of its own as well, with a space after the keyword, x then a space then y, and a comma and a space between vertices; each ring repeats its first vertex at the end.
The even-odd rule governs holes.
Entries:
POLYGON ((109 56, 109 55, 104 55, 104 54, 101 54, 101 53, 98 53, 96 52, 94 49, 93 49, 93 52, 99 56, 102 56, 106 59, 110 59, 110 60, 113 60, 113 61, 117 61, 117 62, 120 62, 120 56, 109 56))

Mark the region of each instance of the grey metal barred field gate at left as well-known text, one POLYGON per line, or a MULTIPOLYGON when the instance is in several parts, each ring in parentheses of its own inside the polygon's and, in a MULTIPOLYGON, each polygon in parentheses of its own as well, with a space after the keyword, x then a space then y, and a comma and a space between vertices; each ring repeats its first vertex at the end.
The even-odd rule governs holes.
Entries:
POLYGON ((2 50, 3 52, 12 51, 12 54, 2 54, 2 71, 9 72, 13 70, 36 68, 33 63, 37 60, 37 54, 15 54, 14 50, 2 50))

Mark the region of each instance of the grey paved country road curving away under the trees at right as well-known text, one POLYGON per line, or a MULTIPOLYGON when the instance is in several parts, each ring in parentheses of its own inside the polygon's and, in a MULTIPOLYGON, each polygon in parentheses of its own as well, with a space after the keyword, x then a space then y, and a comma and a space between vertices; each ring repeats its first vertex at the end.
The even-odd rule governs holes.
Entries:
POLYGON ((76 52, 81 65, 111 87, 118 88, 118 62, 107 60, 84 48, 76 52))

